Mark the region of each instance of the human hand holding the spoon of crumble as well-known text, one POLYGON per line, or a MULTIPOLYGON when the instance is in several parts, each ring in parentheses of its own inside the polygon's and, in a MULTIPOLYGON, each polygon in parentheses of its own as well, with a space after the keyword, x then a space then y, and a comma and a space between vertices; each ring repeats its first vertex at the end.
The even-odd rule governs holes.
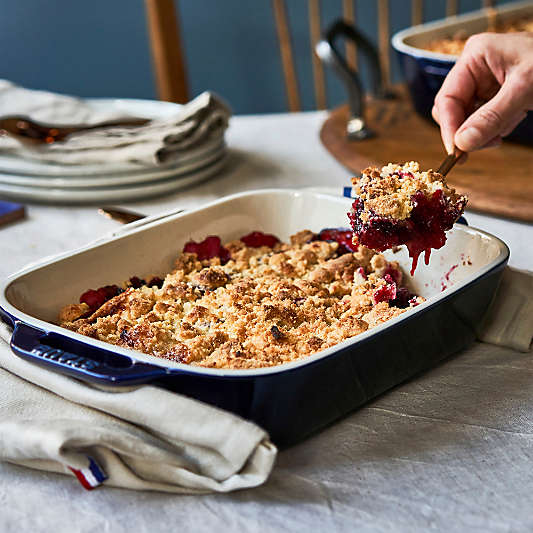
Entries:
POLYGON ((533 33, 480 33, 435 97, 433 118, 451 154, 501 143, 533 109, 533 33))

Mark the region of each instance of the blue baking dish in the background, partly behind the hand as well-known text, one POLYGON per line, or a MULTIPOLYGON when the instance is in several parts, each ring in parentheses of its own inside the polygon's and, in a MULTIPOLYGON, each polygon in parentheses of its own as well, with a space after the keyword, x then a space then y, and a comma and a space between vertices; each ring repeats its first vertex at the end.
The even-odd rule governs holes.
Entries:
MULTIPOLYGON (((498 20, 517 20, 533 16, 533 3, 514 2, 496 8, 498 20)), ((457 57, 425 50, 424 46, 439 38, 453 37, 458 31, 467 35, 487 31, 487 11, 482 9, 465 15, 448 17, 435 22, 413 26, 396 33, 392 46, 400 65, 416 111, 431 119, 431 109, 444 78, 454 66, 457 57)), ((533 144, 533 113, 514 129, 507 139, 522 144, 533 144)))

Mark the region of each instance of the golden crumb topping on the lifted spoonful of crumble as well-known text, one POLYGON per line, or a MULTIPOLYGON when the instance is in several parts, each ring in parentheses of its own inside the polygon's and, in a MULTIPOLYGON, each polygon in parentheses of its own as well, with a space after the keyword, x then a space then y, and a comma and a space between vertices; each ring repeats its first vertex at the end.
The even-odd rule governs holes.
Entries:
POLYGON ((416 161, 403 165, 389 163, 381 169, 368 167, 361 178, 352 179, 352 184, 364 203, 360 215, 363 222, 373 215, 396 220, 409 218, 414 207, 412 197, 418 191, 430 196, 440 189, 451 204, 466 202, 465 197, 448 186, 442 174, 433 170, 422 172, 416 161))

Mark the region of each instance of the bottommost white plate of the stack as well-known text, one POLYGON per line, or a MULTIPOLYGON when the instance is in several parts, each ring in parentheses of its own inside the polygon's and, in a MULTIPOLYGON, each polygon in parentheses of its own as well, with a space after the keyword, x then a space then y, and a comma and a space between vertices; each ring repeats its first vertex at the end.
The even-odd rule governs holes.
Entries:
POLYGON ((0 185, 0 199, 10 198, 51 204, 91 204, 100 202, 126 202, 145 199, 183 189, 200 183, 218 173, 225 165, 228 154, 224 153, 214 163, 184 174, 179 178, 168 178, 145 185, 107 187, 101 189, 60 189, 44 187, 23 187, 20 185, 0 185))

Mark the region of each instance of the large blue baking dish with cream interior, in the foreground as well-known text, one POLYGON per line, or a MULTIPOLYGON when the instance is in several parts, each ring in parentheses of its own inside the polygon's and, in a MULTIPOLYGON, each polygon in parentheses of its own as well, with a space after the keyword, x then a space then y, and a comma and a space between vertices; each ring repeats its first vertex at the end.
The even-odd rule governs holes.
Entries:
MULTIPOLYGON (((294 444, 387 389, 464 349, 489 306, 509 251, 496 237, 457 226, 418 267, 411 288, 428 301, 303 360, 258 370, 221 370, 158 359, 54 324, 59 308, 88 287, 163 274, 189 238, 233 239, 251 230, 282 239, 345 225, 350 200, 298 190, 233 195, 187 213, 149 219, 23 270, 0 287, 0 316, 13 352, 91 383, 151 383, 253 420, 279 446, 294 444)), ((390 252, 392 254, 392 252, 390 252)), ((394 254, 408 271, 405 250, 394 254)))

